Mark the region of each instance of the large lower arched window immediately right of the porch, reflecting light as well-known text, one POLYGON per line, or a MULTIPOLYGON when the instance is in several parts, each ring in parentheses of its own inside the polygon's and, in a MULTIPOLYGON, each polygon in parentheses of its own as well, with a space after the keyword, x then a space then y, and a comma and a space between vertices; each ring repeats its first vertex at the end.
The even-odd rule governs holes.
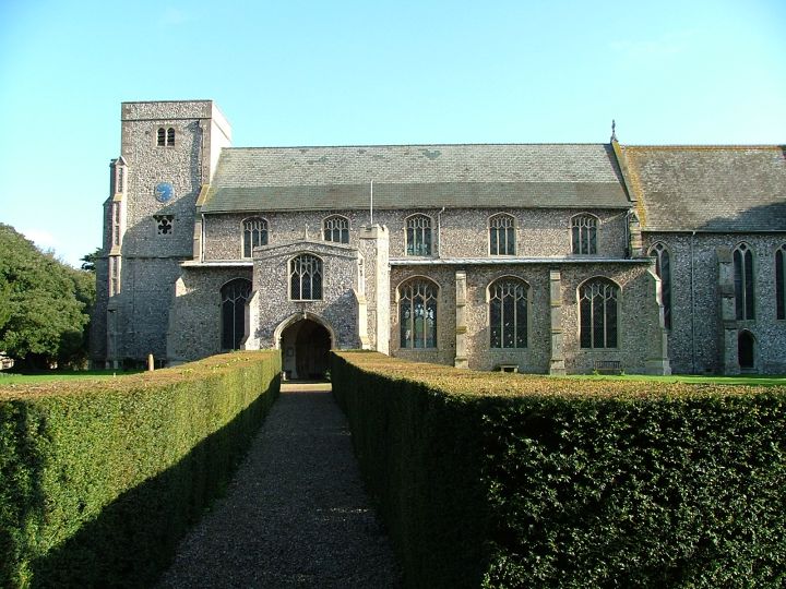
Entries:
POLYGON ((398 287, 402 348, 437 347, 437 285, 427 278, 413 278, 398 287))

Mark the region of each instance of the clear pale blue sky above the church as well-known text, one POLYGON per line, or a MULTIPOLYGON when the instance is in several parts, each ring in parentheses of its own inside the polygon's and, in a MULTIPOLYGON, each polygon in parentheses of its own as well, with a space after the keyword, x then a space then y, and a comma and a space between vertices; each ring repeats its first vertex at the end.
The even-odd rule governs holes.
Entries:
POLYGON ((236 146, 786 143, 786 1, 0 1, 0 221, 100 245, 120 103, 236 146))

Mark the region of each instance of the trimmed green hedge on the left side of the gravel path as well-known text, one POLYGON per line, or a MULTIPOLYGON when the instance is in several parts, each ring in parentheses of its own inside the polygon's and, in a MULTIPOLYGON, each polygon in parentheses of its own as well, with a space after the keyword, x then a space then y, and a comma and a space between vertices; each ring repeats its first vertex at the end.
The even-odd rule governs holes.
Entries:
POLYGON ((226 485, 277 352, 0 387, 0 586, 143 587, 226 485))

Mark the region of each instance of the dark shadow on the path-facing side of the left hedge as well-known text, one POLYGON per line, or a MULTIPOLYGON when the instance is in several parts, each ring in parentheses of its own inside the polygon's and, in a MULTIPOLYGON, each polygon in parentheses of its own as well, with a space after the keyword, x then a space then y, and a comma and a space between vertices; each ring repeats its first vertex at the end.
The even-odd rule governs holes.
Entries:
POLYGON ((150 587, 219 496, 277 398, 271 389, 165 472, 123 493, 32 563, 33 587, 150 587))

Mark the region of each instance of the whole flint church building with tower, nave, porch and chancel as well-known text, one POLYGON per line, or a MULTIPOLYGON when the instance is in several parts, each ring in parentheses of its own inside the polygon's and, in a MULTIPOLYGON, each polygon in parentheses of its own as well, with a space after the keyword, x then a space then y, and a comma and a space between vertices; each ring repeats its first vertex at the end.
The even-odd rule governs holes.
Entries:
POLYGON ((97 365, 786 373, 786 147, 233 147, 212 100, 123 103, 96 271, 97 365))

